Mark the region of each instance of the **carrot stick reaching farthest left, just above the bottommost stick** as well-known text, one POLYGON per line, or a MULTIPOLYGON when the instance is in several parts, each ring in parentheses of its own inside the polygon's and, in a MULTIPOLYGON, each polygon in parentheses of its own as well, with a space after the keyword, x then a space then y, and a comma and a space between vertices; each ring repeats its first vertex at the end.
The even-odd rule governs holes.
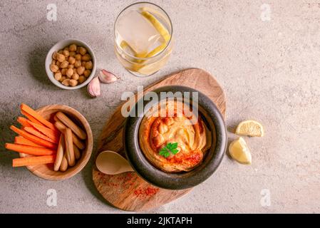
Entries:
POLYGON ((14 150, 16 152, 23 152, 28 155, 54 155, 56 150, 51 150, 47 148, 31 147, 30 145, 19 145, 14 143, 6 143, 7 150, 14 150))

